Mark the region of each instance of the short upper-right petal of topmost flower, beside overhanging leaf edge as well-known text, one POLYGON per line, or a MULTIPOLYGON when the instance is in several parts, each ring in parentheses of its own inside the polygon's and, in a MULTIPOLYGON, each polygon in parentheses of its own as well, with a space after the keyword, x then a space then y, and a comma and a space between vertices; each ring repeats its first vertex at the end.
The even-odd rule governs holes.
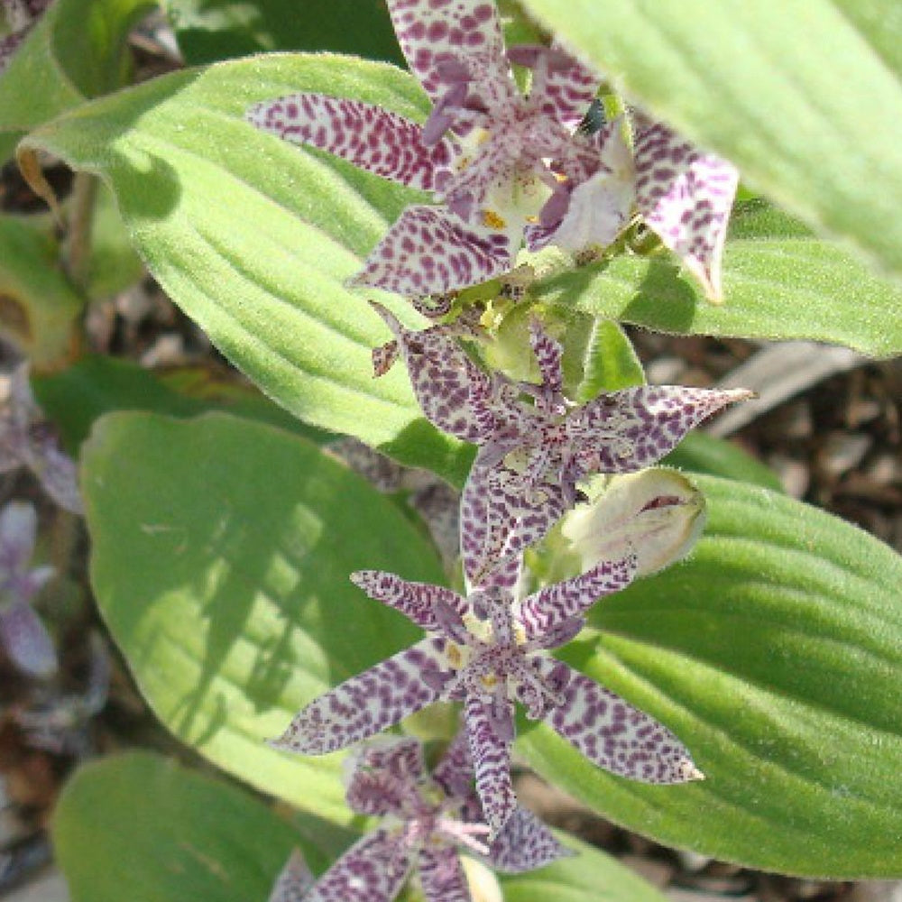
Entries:
POLYGON ((575 129, 598 93, 601 77, 557 41, 551 47, 511 47, 508 59, 533 70, 530 100, 560 124, 575 129))

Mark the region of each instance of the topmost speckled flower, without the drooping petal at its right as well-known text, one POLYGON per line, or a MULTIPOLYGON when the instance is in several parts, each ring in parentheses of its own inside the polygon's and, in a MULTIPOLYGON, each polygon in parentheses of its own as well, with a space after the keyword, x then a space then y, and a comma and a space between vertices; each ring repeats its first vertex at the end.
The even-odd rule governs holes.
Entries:
MULTIPOLYGON (((600 79, 557 47, 505 54, 492 0, 388 5, 410 70, 433 103, 426 124, 320 94, 267 101, 247 117, 290 142, 432 192, 442 206, 408 207, 353 283, 441 294, 510 270, 529 223, 545 226, 543 240, 553 241, 568 184, 601 179, 627 152, 619 133, 576 130, 600 79), (532 69, 529 97, 509 60, 532 69), (611 145, 604 155, 601 143, 611 145)), ((594 240, 607 244, 629 216, 631 189, 603 200, 595 193, 594 201, 603 205, 591 217, 594 240)))

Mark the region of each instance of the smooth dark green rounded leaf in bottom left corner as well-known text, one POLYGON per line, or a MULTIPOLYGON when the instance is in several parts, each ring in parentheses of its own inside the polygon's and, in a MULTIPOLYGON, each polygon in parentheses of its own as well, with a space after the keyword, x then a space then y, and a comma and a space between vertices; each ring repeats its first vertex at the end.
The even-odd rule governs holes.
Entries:
POLYGON ((253 796, 148 752, 78 769, 53 845, 72 902, 264 902, 292 849, 318 858, 253 796))

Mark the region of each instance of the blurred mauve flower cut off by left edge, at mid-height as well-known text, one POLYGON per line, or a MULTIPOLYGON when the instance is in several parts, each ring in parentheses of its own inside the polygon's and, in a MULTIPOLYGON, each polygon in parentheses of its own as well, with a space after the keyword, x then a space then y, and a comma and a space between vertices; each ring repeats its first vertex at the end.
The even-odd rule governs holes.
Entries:
POLYGON ((0 412, 0 473, 25 466, 37 476, 54 502, 72 513, 84 513, 75 463, 32 396, 28 366, 19 366, 10 379, 9 397, 0 412))

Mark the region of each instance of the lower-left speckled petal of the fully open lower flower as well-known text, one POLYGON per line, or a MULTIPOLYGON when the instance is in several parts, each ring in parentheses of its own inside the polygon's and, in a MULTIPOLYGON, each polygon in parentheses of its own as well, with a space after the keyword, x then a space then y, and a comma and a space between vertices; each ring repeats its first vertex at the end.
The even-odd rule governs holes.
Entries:
POLYGON ((393 726, 441 695, 443 649, 443 640, 420 640, 352 676, 308 704, 270 744, 299 755, 325 755, 393 726))

